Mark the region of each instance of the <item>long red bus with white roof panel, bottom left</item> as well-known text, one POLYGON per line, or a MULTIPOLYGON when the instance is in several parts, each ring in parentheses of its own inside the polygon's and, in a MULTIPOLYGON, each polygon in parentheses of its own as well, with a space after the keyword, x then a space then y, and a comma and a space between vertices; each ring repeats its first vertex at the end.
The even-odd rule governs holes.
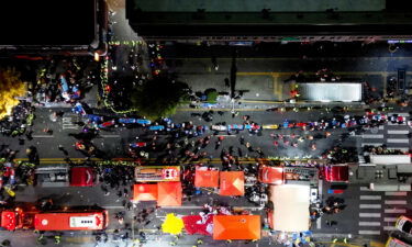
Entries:
POLYGON ((109 225, 107 210, 46 212, 34 215, 37 231, 99 231, 109 225))

